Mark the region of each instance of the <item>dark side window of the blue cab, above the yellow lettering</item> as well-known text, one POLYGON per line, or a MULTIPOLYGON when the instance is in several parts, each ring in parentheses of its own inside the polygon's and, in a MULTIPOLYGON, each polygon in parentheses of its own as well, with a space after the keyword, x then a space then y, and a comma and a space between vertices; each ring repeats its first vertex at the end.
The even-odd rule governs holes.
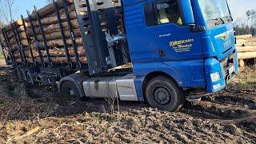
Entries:
MULTIPOLYGON (((145 6, 145 14, 149 14, 150 5, 145 6)), ((178 0, 164 0, 163 2, 156 2, 153 4, 151 17, 146 15, 146 25, 155 26, 165 23, 177 23, 182 25, 182 14, 179 10, 178 0), (152 14, 154 22, 152 22, 152 14)))

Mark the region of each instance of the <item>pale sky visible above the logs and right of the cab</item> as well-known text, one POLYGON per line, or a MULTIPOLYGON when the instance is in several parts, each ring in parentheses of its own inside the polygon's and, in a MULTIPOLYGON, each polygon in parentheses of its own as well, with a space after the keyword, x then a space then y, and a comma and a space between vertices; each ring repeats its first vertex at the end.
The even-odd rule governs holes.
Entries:
MULTIPOLYGON (((241 22, 246 23, 246 10, 256 10, 256 0, 227 0, 230 5, 231 13, 234 20, 239 24, 241 22)), ((23 14, 26 17, 26 10, 34 10, 33 6, 41 8, 46 5, 46 0, 17 0, 16 7, 18 7, 17 18, 19 14, 23 14)))

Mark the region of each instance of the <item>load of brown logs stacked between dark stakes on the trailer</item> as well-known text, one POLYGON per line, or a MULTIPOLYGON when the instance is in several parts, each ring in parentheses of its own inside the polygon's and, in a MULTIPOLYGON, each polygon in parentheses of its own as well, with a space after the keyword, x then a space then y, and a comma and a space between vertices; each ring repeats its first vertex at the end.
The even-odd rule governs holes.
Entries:
POLYGON ((17 64, 87 63, 73 0, 58 0, 18 19, 1 30, 0 42, 6 58, 17 64))

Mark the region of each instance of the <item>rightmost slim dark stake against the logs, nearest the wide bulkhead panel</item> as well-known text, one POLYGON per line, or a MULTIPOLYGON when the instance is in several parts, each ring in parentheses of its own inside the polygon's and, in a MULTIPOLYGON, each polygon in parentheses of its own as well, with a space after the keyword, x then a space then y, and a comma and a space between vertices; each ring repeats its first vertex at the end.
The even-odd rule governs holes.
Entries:
POLYGON ((76 64, 77 64, 76 66, 77 66, 78 69, 81 69, 82 63, 80 62, 79 55, 78 55, 78 46, 77 46, 77 44, 75 42, 75 39, 74 39, 74 28, 71 25, 70 12, 67 9, 66 0, 62 0, 62 3, 63 3, 63 7, 64 7, 64 13, 66 15, 67 26, 68 26, 68 29, 70 31, 70 35, 71 35, 71 39, 72 39, 72 46, 74 48, 74 56, 75 56, 75 61, 76 61, 76 64))

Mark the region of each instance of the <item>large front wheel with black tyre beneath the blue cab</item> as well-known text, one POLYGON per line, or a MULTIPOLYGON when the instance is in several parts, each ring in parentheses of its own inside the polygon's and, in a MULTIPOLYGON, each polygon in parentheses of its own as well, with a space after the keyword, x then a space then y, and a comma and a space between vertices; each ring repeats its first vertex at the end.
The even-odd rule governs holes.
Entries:
POLYGON ((150 106, 173 112, 182 107, 185 99, 176 82, 164 76, 151 79, 146 86, 145 94, 150 106))

